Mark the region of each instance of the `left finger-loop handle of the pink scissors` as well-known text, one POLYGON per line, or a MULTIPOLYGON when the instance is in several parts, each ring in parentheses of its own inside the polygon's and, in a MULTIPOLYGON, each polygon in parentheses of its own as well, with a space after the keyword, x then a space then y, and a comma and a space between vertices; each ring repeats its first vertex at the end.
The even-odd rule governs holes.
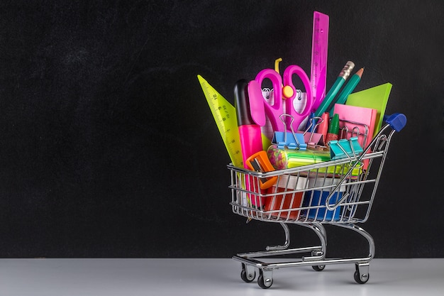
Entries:
POLYGON ((262 82, 265 79, 271 80, 274 89, 273 104, 270 104, 270 102, 267 102, 262 97, 265 114, 267 114, 268 119, 270 119, 274 131, 284 131, 284 126, 279 120, 279 116, 284 113, 282 108, 282 78, 278 72, 272 69, 264 69, 257 73, 255 81, 262 86, 262 82))

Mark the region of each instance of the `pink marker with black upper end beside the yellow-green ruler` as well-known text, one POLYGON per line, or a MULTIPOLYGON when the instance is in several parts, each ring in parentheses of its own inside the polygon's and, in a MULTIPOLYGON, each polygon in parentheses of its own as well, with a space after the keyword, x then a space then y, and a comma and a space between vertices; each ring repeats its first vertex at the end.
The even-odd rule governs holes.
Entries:
POLYGON ((234 106, 238 119, 243 167, 248 168, 246 160, 263 149, 260 126, 251 117, 247 80, 236 82, 234 87, 234 106))

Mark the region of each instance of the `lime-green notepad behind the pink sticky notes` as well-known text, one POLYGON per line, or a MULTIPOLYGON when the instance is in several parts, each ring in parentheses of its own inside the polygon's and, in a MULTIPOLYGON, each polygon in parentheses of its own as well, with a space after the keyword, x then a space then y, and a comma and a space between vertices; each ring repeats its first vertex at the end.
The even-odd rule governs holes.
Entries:
POLYGON ((381 129, 382 121, 384 119, 385 107, 389 100, 389 94, 392 90, 392 84, 386 83, 372 87, 370 89, 364 89, 360 92, 354 92, 349 94, 346 105, 365 107, 371 109, 377 109, 376 124, 374 126, 373 136, 376 136, 381 129))

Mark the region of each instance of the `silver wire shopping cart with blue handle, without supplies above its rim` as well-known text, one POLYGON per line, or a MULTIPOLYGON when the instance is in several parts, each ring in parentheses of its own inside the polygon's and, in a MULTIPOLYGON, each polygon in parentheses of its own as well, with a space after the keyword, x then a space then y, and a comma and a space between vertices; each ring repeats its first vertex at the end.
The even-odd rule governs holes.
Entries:
POLYGON ((360 155, 348 153, 346 158, 339 160, 271 172, 255 172, 228 165, 233 212, 248 220, 278 223, 285 234, 282 246, 268 246, 265 251, 233 256, 235 261, 242 263, 240 277, 245 282, 255 279, 256 270, 259 270, 258 285, 268 288, 273 283, 273 271, 278 268, 311 265, 314 270, 321 271, 328 264, 355 263, 355 281, 367 283, 369 262, 374 257, 374 241, 356 224, 367 221, 390 140, 394 132, 400 131, 406 124, 404 114, 386 116, 384 120, 387 124, 360 155), (261 189, 264 180, 273 177, 276 179, 273 187, 261 189), (320 246, 289 248, 288 224, 312 229, 321 241, 320 246), (323 224, 351 229, 364 236, 369 245, 368 256, 326 258, 326 229, 323 224), (285 258, 288 258, 288 255, 296 253, 305 253, 306 256, 286 262, 282 259, 268 262, 274 256, 286 255, 285 258), (258 258, 267 258, 268 261, 258 258))

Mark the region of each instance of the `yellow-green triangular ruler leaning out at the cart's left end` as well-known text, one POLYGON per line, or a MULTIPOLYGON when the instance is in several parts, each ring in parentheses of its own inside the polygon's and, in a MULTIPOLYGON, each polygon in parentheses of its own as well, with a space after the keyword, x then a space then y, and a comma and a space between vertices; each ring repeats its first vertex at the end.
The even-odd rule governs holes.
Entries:
POLYGON ((238 129, 238 119, 236 119, 235 108, 230 102, 219 94, 216 89, 204 80, 201 75, 197 75, 204 91, 206 102, 218 127, 223 143, 225 144, 231 163, 236 167, 243 168, 242 150, 240 149, 240 137, 238 129))

